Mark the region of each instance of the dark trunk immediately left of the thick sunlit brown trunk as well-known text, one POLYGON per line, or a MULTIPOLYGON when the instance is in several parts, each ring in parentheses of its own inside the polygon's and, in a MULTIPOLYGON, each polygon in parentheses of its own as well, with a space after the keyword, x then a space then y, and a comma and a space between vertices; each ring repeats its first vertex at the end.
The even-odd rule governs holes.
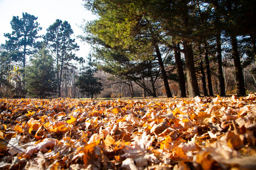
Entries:
MULTIPOLYGON (((180 48, 179 44, 177 45, 174 44, 174 46, 176 46, 178 49, 180 48)), ((174 50, 174 57, 175 57, 175 63, 177 67, 180 97, 186 97, 185 78, 184 78, 183 65, 181 61, 180 52, 178 52, 177 50, 174 50)))

